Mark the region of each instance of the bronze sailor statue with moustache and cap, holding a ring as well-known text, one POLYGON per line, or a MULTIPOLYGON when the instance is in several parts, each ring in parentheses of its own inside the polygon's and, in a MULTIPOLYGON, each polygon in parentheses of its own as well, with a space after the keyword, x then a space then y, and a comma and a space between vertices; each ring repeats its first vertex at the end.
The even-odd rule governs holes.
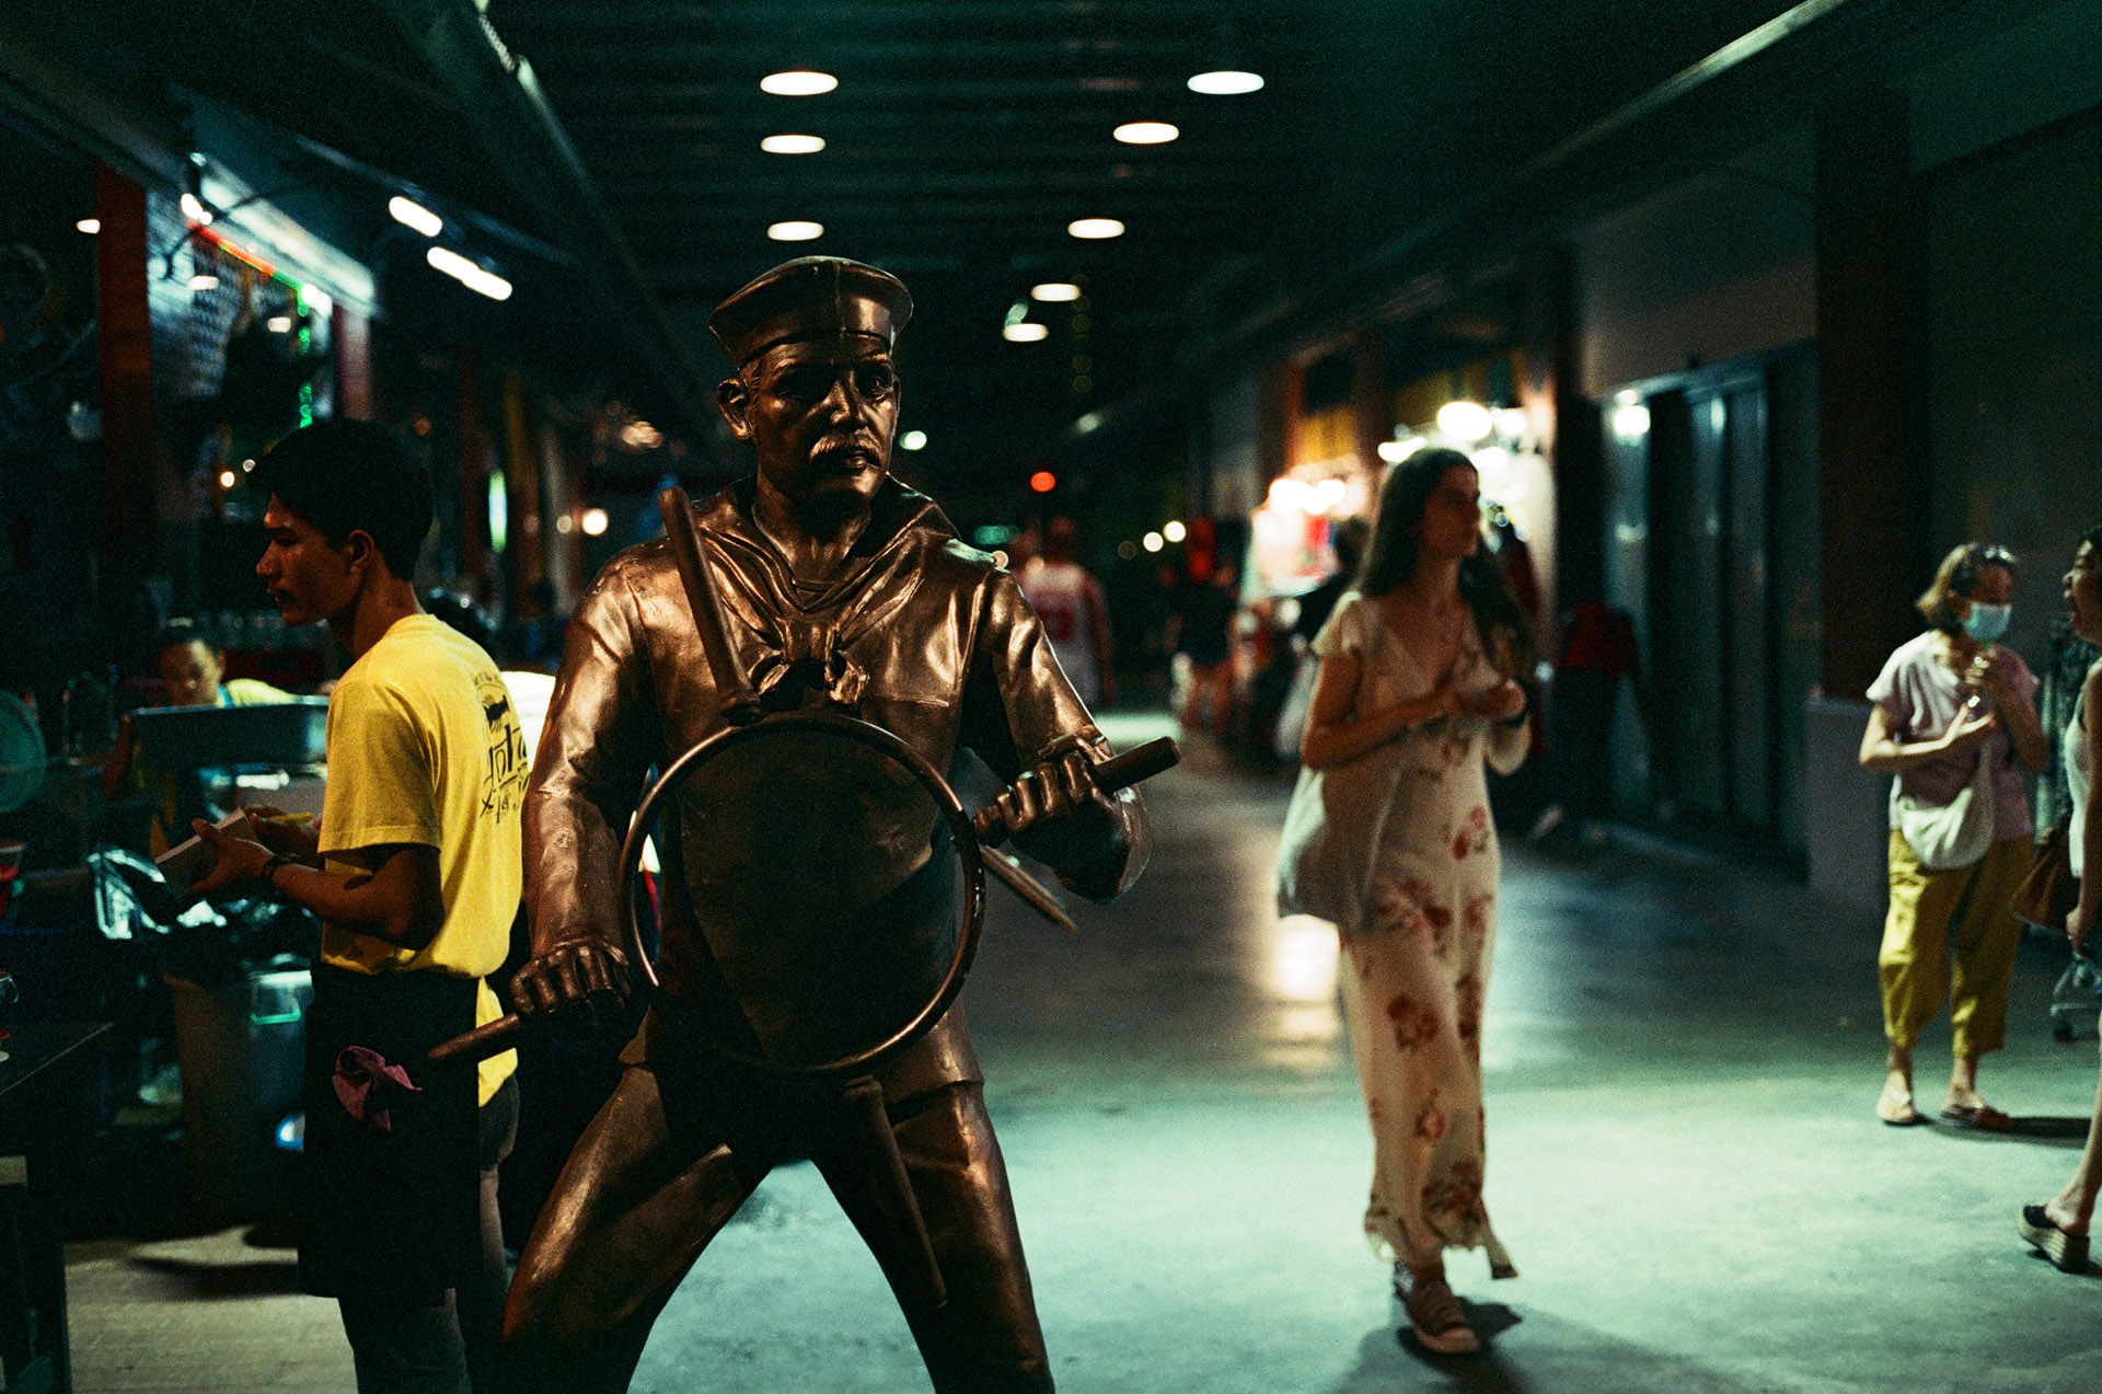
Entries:
POLYGON ((650 1009, 519 1259, 504 1344, 530 1388, 624 1390, 673 1289, 795 1156, 877 1253, 935 1390, 1051 1388, 954 1001, 973 828, 1091 900, 1137 877, 1148 828, 1015 580, 889 475, 910 311, 837 257, 723 301, 717 402, 757 475, 675 494, 668 536, 614 557, 572 620, 513 995, 528 1018, 612 1016, 647 986, 650 1009), (965 751, 1007 784, 975 822, 946 778, 965 751), (656 944, 633 923, 645 835, 656 944))

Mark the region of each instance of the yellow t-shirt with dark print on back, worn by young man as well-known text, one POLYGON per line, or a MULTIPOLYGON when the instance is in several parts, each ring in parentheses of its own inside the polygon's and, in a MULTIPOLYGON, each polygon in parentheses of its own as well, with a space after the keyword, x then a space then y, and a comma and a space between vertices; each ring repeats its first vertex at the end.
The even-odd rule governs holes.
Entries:
MULTIPOLYGON (((494 973, 519 904, 530 763, 490 656, 429 614, 395 620, 328 698, 322 856, 332 870, 362 870, 368 847, 437 847, 446 921, 416 950, 324 923, 322 961, 357 973, 494 973)), ((481 982, 475 1024, 498 1016, 481 982)), ((481 1062, 483 1104, 515 1068, 517 1051, 481 1062)))

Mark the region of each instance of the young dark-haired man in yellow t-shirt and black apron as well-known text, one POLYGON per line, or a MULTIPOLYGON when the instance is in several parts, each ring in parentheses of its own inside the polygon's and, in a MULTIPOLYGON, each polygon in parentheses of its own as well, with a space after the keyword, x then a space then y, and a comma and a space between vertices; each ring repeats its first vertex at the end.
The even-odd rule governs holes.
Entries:
POLYGON ((328 704, 317 833, 195 824, 219 852, 206 891, 261 881, 322 919, 301 1272, 341 1301, 359 1390, 488 1390, 517 1058, 469 1070, 425 1051, 500 1013, 483 978, 517 913, 530 755, 496 664, 416 601, 431 486, 383 427, 294 431, 254 481, 271 599, 353 660, 328 704))

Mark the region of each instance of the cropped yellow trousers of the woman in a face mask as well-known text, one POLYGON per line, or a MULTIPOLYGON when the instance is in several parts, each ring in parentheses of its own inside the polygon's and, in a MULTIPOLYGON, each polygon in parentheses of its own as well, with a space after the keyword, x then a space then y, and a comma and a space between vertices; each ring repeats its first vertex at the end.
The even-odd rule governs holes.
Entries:
POLYGON ((2007 900, 2035 856, 2026 837, 2010 837, 1961 870, 1928 870, 1904 835, 1890 831, 1890 913, 1875 963, 1892 1045, 1913 1049, 1942 1001, 1957 1055, 2005 1045, 2007 980, 2022 942, 2022 921, 2007 900))

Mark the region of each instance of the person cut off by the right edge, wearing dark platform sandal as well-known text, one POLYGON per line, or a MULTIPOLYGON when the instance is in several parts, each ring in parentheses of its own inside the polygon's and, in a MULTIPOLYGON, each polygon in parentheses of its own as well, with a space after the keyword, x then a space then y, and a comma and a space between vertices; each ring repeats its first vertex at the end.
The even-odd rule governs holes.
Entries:
MULTIPOLYGON (((2064 576, 2073 633, 2102 645, 2102 524, 2087 530, 2064 576)), ((2066 917, 2073 952, 2085 955, 2102 917, 2102 805, 2094 799, 2096 765, 2102 765, 2102 660, 2087 667, 2081 696, 2064 740, 2070 822, 2066 852, 2079 879, 2079 902, 2066 917), (2087 875, 2087 868, 2098 875, 2087 875)), ((2064 1272, 2087 1270, 2087 1230, 2094 1224, 2096 1192, 2102 1192, 2102 1079, 2096 1081, 2096 1110, 2087 1121, 2087 1146, 2064 1190, 2043 1205, 2022 1207, 2022 1238, 2043 1251, 2064 1272)))

